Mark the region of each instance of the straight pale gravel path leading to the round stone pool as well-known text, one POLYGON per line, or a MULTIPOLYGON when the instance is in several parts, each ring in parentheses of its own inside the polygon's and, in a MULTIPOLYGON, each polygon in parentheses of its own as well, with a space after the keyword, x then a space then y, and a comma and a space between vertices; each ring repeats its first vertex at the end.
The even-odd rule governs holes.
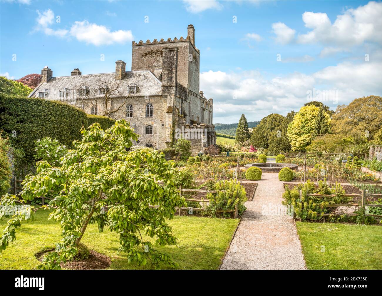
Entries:
POLYGON ((275 213, 282 206, 283 182, 263 173, 253 201, 241 218, 220 269, 306 269, 293 219, 275 213), (263 207, 264 206, 264 207, 263 207))

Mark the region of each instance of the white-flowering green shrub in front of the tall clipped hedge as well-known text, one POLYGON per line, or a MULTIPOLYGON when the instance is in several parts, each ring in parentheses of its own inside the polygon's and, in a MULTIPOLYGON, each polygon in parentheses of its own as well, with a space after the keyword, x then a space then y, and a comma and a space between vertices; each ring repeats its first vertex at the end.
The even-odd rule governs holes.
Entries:
POLYGON ((57 139, 52 140, 50 137, 35 140, 34 143, 36 146, 34 157, 39 161, 46 161, 51 166, 58 166, 60 158, 68 152, 65 145, 60 145, 57 139))

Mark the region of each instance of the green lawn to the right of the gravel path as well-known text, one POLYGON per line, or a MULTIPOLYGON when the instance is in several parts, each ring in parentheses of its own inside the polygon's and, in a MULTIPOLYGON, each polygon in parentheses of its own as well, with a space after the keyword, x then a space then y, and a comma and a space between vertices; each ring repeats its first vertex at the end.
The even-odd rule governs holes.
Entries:
POLYGON ((382 269, 382 226, 296 225, 308 269, 382 269))

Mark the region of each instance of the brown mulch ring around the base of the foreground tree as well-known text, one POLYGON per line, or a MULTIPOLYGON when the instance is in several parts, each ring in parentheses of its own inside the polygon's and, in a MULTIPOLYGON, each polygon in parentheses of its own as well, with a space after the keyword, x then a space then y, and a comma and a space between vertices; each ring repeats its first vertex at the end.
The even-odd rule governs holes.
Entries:
MULTIPOLYGON (((36 258, 39 261, 42 261, 44 258, 45 253, 52 252, 54 248, 49 250, 42 250, 35 254, 36 258)), ((60 266, 63 269, 76 269, 76 270, 92 270, 92 269, 106 269, 110 266, 112 263, 112 260, 103 254, 100 254, 99 252, 96 252, 95 250, 89 250, 90 255, 87 259, 82 260, 72 260, 67 261, 66 263, 61 263, 60 266)))

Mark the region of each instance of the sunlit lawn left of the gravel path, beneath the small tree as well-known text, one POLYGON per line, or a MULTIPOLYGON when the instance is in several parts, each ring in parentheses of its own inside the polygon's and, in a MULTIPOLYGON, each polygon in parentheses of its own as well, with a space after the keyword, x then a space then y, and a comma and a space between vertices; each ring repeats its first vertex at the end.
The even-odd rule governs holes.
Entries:
MULTIPOLYGON (((16 241, 11 242, 0 257, 0 269, 33 269, 39 264, 34 254, 44 247, 52 247, 61 239, 58 223, 47 220, 49 211, 39 210, 34 221, 24 223, 16 233, 16 241)), ((178 238, 176 246, 158 246, 179 264, 180 269, 217 269, 225 250, 230 244, 238 219, 218 219, 196 216, 175 216, 168 224, 178 238)), ((3 231, 6 220, 0 221, 3 231)), ((126 255, 118 254, 118 234, 105 228, 98 232, 96 225, 89 225, 81 240, 89 249, 108 255, 112 259, 110 269, 142 269, 129 264, 126 255)), ((144 239, 147 239, 147 237, 144 239)), ((154 243, 155 239, 150 240, 154 243)), ((153 268, 146 265, 144 269, 153 268)), ((161 266, 161 268, 166 268, 161 266)))

